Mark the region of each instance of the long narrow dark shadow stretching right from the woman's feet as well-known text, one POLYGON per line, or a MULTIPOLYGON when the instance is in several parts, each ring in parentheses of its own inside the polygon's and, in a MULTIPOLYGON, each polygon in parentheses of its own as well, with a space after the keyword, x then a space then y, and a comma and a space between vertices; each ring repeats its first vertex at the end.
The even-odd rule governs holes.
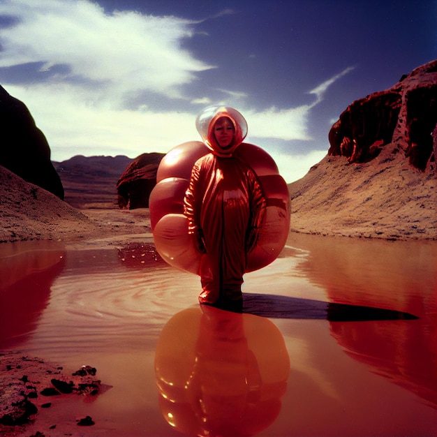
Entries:
POLYGON ((322 302, 298 297, 244 293, 243 312, 268 318, 321 319, 337 322, 365 320, 413 320, 403 311, 351 304, 322 302))

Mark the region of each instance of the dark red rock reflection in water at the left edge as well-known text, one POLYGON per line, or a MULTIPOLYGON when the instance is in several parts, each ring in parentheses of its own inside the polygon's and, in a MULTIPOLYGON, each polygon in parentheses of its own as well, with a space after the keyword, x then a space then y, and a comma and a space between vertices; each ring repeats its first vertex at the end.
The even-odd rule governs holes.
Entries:
POLYGON ((64 263, 61 244, 0 245, 0 349, 17 346, 35 329, 64 263))

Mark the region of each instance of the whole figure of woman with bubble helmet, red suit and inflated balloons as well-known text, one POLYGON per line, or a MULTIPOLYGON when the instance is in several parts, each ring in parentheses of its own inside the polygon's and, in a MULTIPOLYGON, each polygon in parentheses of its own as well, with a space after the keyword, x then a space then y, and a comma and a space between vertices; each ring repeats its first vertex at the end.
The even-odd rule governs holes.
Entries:
POLYGON ((203 142, 184 142, 158 167, 151 228, 158 253, 200 274, 201 302, 214 303, 223 295, 237 299, 243 274, 279 255, 289 232, 290 198, 272 156, 242 142, 247 123, 237 110, 205 108, 196 128, 203 142))

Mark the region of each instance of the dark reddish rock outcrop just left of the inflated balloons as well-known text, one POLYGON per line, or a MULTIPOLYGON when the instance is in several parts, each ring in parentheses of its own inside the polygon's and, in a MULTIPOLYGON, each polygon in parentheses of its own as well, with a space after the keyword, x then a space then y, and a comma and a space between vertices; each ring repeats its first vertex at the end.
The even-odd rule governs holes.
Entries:
POLYGON ((117 182, 118 205, 122 209, 148 208, 156 172, 164 154, 141 154, 128 165, 117 182))

